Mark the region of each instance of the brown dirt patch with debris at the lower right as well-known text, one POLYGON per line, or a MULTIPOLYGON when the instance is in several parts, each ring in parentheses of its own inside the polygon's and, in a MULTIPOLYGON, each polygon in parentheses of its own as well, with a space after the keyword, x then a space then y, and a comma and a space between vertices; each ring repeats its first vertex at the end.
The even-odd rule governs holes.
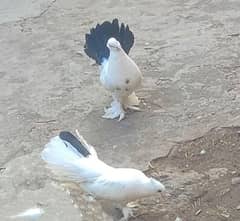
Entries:
POLYGON ((140 201, 133 220, 239 220, 239 162, 240 127, 212 129, 178 143, 146 171, 165 183, 166 197, 140 201))

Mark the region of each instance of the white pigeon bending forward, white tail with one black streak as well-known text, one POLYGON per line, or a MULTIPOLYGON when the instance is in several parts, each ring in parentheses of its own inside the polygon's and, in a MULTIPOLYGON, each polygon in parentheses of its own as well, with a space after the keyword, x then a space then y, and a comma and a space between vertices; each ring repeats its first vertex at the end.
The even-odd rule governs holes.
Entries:
POLYGON ((95 199, 105 200, 122 210, 121 220, 128 220, 131 209, 126 205, 136 199, 163 192, 165 187, 139 170, 114 168, 98 159, 95 149, 81 136, 63 131, 50 140, 42 151, 42 159, 65 181, 80 185, 95 199))

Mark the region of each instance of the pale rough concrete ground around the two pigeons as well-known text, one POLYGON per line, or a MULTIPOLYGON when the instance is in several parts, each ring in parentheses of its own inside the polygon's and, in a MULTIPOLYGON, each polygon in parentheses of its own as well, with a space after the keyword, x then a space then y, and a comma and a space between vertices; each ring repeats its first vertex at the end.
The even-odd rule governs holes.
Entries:
POLYGON ((145 169, 176 142, 240 125, 239 10, 238 0, 1 1, 0 220, 37 203, 41 220, 105 219, 39 158, 62 129, 78 129, 113 166, 145 169), (101 118, 110 96, 83 52, 89 28, 115 17, 134 32, 144 75, 143 111, 120 123, 101 118))

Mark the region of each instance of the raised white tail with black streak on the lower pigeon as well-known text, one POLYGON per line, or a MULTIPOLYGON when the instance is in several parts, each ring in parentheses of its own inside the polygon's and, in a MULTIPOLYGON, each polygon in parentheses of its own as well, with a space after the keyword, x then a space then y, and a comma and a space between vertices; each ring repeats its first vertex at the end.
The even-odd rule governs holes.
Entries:
POLYGON ((82 136, 79 141, 67 131, 52 138, 45 145, 41 157, 58 178, 66 181, 92 181, 108 168, 97 158, 95 149, 82 136))

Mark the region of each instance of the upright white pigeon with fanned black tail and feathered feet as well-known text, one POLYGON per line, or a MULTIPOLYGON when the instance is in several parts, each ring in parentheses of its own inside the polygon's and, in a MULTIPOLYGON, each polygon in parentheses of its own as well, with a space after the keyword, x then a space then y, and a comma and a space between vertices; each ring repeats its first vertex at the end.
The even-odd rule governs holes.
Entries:
POLYGON ((133 43, 134 35, 128 25, 119 26, 118 19, 97 24, 86 34, 84 51, 100 65, 100 81, 113 97, 103 118, 119 117, 120 121, 125 117, 125 109, 139 110, 135 90, 140 86, 142 74, 128 56, 133 43))

